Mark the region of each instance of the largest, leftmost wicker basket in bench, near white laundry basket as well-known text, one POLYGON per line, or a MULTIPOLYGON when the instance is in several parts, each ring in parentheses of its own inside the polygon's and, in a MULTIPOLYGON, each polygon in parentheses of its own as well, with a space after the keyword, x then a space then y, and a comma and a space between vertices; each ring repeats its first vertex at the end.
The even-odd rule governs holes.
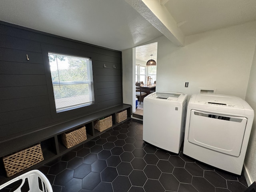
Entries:
POLYGON ((42 160, 44 160, 44 156, 40 144, 3 158, 7 177, 13 176, 42 160))

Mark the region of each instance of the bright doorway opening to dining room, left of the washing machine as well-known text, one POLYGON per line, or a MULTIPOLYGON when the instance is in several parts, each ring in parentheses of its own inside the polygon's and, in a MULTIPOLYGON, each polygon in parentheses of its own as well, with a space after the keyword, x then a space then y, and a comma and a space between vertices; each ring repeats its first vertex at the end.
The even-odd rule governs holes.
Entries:
POLYGON ((143 100, 148 94, 156 90, 156 66, 146 66, 148 60, 157 63, 157 42, 138 46, 133 51, 134 68, 134 102, 132 106, 132 117, 143 119, 143 100), (146 92, 144 96, 136 96, 136 82, 140 82, 141 91, 146 92))

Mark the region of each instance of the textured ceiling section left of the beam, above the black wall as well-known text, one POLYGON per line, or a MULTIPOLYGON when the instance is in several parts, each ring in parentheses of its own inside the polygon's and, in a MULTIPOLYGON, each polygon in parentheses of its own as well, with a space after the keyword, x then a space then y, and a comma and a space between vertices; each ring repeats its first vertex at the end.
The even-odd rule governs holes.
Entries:
POLYGON ((124 0, 1 0, 0 20, 114 50, 159 32, 124 0))

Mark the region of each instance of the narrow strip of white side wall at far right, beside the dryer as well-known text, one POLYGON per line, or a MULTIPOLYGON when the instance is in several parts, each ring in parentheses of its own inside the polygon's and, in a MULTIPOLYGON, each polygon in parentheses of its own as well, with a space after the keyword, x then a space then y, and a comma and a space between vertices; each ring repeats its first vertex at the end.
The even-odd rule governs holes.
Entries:
MULTIPOLYGON (((245 99, 253 108, 254 115, 256 115, 256 48, 254 52, 254 59, 252 62, 252 68, 245 99)), ((254 118, 254 122, 252 125, 252 131, 244 165, 251 177, 251 182, 256 181, 256 118, 254 118)))

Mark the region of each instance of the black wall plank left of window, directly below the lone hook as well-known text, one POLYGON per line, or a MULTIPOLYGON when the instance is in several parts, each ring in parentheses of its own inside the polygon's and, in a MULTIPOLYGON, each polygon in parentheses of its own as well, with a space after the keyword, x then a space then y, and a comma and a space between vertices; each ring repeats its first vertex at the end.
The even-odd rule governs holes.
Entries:
POLYGON ((0 74, 44 74, 44 65, 0 61, 0 74))

